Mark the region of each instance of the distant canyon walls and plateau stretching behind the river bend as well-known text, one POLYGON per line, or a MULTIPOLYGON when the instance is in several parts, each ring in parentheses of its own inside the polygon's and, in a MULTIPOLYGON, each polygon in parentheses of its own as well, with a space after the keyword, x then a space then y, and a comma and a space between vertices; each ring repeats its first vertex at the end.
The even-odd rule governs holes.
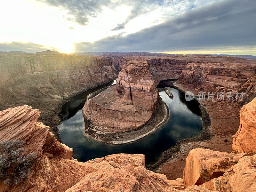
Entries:
MULTIPOLYGON (((117 52, 120 53, 120 52, 117 52)), ((123 52, 124 53, 124 52, 123 52)), ((189 89, 243 91, 243 103, 255 96, 256 61, 229 56, 155 53, 67 55, 0 53, 0 110, 19 105, 39 108, 39 118, 58 137, 58 113, 63 103, 117 77, 128 62, 147 63, 155 84, 178 79, 189 89), (145 56, 146 55, 146 56, 145 56)))

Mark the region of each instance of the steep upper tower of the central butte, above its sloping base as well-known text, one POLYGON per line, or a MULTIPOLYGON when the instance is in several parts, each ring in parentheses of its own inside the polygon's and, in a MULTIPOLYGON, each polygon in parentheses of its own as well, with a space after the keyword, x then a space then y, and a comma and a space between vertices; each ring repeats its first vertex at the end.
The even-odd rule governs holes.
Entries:
POLYGON ((125 64, 116 79, 116 91, 122 94, 122 103, 155 113, 158 90, 148 64, 125 64))

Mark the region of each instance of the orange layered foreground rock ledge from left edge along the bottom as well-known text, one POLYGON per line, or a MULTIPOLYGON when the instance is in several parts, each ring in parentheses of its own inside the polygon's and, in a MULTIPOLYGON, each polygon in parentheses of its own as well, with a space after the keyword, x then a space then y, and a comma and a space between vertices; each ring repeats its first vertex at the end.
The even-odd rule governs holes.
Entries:
MULTIPOLYGON (((73 150, 57 141, 48 126, 37 122, 39 114, 29 106, 0 112, 0 141, 23 140, 25 148, 35 152, 38 159, 28 180, 0 182, 1 192, 179 192, 175 188, 182 188, 182 179, 170 181, 165 175, 146 170, 142 154, 115 154, 85 163, 74 160, 73 150)), ((210 192, 199 186, 189 186, 185 191, 210 192)))

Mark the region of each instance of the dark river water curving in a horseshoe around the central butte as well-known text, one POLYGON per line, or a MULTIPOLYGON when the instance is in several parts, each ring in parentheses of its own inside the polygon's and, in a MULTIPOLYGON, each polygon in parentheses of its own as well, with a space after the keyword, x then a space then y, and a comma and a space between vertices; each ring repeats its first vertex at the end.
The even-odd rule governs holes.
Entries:
POLYGON ((84 117, 82 108, 87 95, 103 87, 114 84, 109 82, 92 90, 80 93, 62 106, 62 121, 59 124, 61 140, 68 147, 73 148, 73 156, 78 161, 88 161, 93 158, 104 157, 116 153, 144 154, 146 164, 157 160, 162 152, 171 148, 181 139, 191 138, 202 131, 203 122, 199 104, 195 101, 185 101, 184 93, 168 84, 158 87, 162 100, 168 105, 170 116, 165 124, 158 127, 148 136, 122 145, 105 144, 93 140, 84 133, 84 117), (173 100, 162 90, 167 87, 174 98, 173 100))

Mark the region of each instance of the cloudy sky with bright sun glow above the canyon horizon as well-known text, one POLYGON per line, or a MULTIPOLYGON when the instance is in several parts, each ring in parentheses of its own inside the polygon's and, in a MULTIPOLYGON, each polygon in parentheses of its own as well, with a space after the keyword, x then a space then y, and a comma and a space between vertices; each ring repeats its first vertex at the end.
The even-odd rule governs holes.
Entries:
POLYGON ((0 51, 256 55, 255 0, 0 3, 0 51))

